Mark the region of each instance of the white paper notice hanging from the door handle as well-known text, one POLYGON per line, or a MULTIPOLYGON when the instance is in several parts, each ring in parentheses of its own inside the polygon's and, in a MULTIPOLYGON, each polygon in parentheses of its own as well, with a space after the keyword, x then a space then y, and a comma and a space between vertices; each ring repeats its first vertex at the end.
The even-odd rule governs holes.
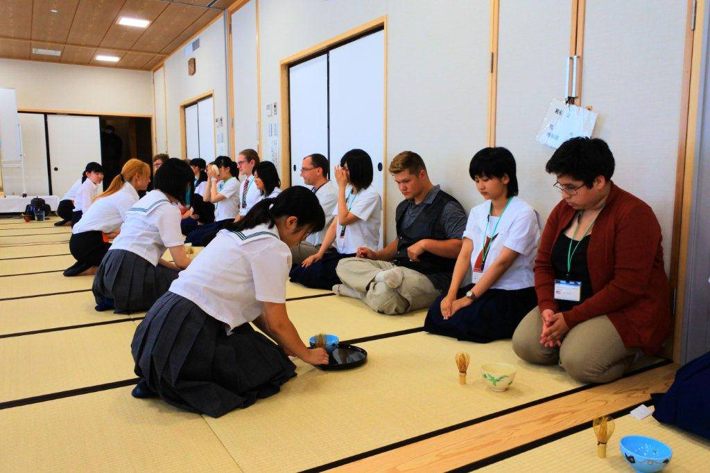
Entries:
POLYGON ((594 130, 596 116, 599 113, 576 105, 565 104, 561 100, 552 100, 542 121, 537 141, 552 148, 559 148, 569 138, 586 136, 594 130))

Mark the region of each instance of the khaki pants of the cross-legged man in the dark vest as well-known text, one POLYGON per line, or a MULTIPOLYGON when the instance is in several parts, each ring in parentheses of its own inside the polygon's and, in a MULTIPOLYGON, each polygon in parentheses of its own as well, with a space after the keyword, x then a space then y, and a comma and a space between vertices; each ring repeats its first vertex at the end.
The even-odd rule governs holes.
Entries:
POLYGON ((361 294, 360 299, 373 311, 395 315, 431 306, 439 291, 429 278, 414 269, 400 268, 404 278, 397 289, 373 281, 378 272, 393 267, 387 261, 345 258, 335 272, 343 284, 361 294))

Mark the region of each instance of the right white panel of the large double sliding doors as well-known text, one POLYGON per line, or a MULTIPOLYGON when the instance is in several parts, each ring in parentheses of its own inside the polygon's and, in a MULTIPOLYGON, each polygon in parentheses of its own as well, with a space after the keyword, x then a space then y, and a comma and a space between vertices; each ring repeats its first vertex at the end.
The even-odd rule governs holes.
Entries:
POLYGON ((329 52, 331 169, 346 151, 365 150, 372 158, 372 185, 380 196, 385 165, 384 38, 384 31, 378 31, 329 52))

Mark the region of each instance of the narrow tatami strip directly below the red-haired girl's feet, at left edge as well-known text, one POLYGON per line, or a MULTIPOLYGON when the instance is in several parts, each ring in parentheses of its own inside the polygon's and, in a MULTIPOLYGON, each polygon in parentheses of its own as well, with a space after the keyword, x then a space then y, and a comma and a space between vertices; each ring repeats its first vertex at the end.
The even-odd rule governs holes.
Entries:
MULTIPOLYGON (((32 260, 27 260, 32 261, 32 260)), ((61 273, 20 274, 1 278, 0 299, 91 289, 93 276, 65 277, 61 273)))

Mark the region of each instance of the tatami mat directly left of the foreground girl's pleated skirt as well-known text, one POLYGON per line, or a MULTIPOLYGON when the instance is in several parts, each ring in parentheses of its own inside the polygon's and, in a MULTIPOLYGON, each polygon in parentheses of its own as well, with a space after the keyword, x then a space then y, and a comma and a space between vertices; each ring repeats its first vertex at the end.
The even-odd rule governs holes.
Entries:
POLYGON ((112 323, 3 338, 0 402, 136 377, 135 331, 132 323, 112 323))

